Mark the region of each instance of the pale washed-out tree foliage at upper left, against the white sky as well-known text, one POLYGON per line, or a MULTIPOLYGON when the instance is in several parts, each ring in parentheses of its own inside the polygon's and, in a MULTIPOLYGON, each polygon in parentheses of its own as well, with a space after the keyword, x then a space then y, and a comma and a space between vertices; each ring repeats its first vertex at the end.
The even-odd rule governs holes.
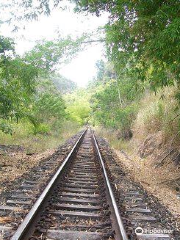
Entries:
POLYGON ((25 60, 39 69, 41 75, 52 72, 58 64, 68 62, 81 50, 81 42, 85 36, 72 39, 54 39, 53 41, 37 42, 35 47, 25 55, 25 60))

